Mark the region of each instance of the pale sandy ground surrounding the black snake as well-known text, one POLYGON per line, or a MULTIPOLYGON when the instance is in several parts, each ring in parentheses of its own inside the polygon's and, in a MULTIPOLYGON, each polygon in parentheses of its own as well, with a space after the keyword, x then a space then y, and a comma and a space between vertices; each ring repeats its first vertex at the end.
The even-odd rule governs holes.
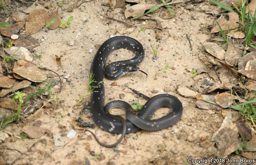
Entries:
MULTIPOLYGON (((140 90, 141 93, 152 97, 157 94, 166 93, 164 88, 171 89, 168 94, 174 95, 180 99, 183 105, 183 115, 181 120, 174 126, 167 129, 147 132, 139 131, 129 134, 116 148, 101 147, 89 133, 78 131, 75 138, 68 139, 66 134, 71 130, 70 123, 77 119, 78 116, 90 121, 90 114, 81 115, 83 106, 76 105, 76 99, 81 97, 84 89, 89 82, 89 69, 92 59, 97 51, 95 44, 102 44, 110 35, 121 35, 116 32, 117 22, 104 18, 105 15, 114 16, 115 18, 124 18, 123 9, 110 9, 107 0, 95 0, 82 4, 79 8, 75 8, 73 12, 59 9, 60 15, 67 20, 69 16, 74 16, 71 26, 66 29, 57 28, 56 30, 41 29, 32 36, 38 40, 43 39, 43 35, 47 35, 47 40, 40 41, 41 45, 33 49, 33 54, 42 55, 41 59, 33 62, 40 67, 46 67, 58 72, 60 75, 69 74, 68 81, 62 83, 62 91, 53 89, 53 94, 58 94, 59 108, 44 108, 36 118, 30 121, 33 125, 37 120, 41 120, 40 127, 50 130, 51 133, 45 134, 36 142, 35 139, 19 140, 15 137, 9 137, 4 143, 0 144, 0 160, 10 164, 186 164, 188 158, 214 158, 215 156, 207 149, 211 146, 211 137, 220 127, 223 117, 220 111, 207 111, 196 108, 195 99, 185 98, 177 93, 177 88, 189 87, 193 89, 195 82, 202 84, 204 79, 208 77, 206 74, 197 75, 191 78, 190 69, 203 67, 199 55, 205 54, 202 44, 207 43, 211 39, 208 26, 213 25, 214 16, 205 14, 200 7, 207 2, 194 4, 191 11, 184 9, 184 5, 174 5, 173 9, 177 14, 171 19, 162 19, 163 28, 170 33, 163 31, 163 39, 161 45, 157 47, 158 58, 153 59, 150 44, 158 45, 160 42, 155 39, 155 30, 146 29, 145 33, 135 29, 127 36, 140 41, 145 49, 145 59, 140 64, 141 70, 148 73, 148 78, 142 73, 132 73, 125 75, 116 80, 117 86, 111 86, 113 81, 105 80, 105 103, 111 100, 118 100, 119 94, 123 93, 125 97, 122 99, 129 102, 136 99, 135 95, 128 91, 125 92, 125 86, 140 90), (120 14, 119 14, 120 13, 120 14), (103 18, 101 17, 103 16, 103 18), (85 21, 88 20, 88 21, 85 21), (188 34, 192 51, 190 50, 189 41, 186 37, 188 34), (175 38, 177 37, 177 40, 175 38), (75 41, 74 46, 68 46, 70 40, 75 41), (76 49, 73 49, 76 48, 76 49), (72 50, 69 50, 72 49, 72 50), (89 50, 93 49, 90 54, 89 50), (69 51, 67 51, 69 50, 69 51), (67 51, 65 54, 64 52, 67 51), (56 56, 61 57, 62 67, 56 64, 56 56), (167 71, 159 71, 165 65, 169 67, 177 65, 176 69, 167 71), (155 76, 156 75, 156 76, 155 76), (152 90, 158 93, 152 94, 152 90), (60 128, 65 126, 66 129, 60 128), (63 131, 64 130, 64 131, 63 131), (65 145, 55 147, 52 133, 59 133, 65 145), (200 139, 204 137, 205 141, 200 139), (94 159, 94 152, 100 155, 98 159, 94 159)), ((67 5, 63 2, 63 5, 67 5)), ((25 8, 25 6, 23 7, 25 8)), ((19 12, 18 15, 24 20, 26 15, 19 12)), ((147 22, 147 21, 146 21, 147 22)), ((135 25, 142 25, 142 21, 135 21, 135 25)), ((212 26, 211 26, 212 27, 212 26)), ((129 59, 133 56, 128 50, 116 50, 108 58, 108 62, 118 61, 120 59, 129 59)), ((225 68, 217 70, 220 79, 225 83, 232 80, 225 68)), ((63 78, 63 77, 62 77, 63 78)), ((58 80, 58 78, 55 78, 58 80)), ((57 85, 60 85, 57 83, 57 85)), ((90 98, 85 100, 89 101, 90 98)), ((146 103, 141 98, 140 103, 146 103)), ((113 110, 113 114, 122 114, 123 111, 113 110)), ((168 113, 167 108, 161 108, 154 118, 158 118, 168 113)), ((13 135, 20 135, 23 123, 12 124, 5 128, 5 131, 11 132, 13 135)), ((114 143, 119 135, 110 134, 99 127, 92 129, 99 136, 100 141, 114 143)), ((237 157, 231 155, 231 157, 237 157)), ((1 162, 0 161, 0 162, 1 162)))

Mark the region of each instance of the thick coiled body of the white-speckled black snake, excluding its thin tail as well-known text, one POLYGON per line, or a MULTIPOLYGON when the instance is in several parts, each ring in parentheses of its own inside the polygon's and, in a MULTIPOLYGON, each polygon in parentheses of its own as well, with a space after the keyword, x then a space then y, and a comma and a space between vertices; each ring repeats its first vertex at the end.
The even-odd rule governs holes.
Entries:
MULTIPOLYGON (((108 79, 117 79, 127 72, 139 70, 137 65, 143 61, 145 56, 140 42, 126 36, 112 37, 106 40, 100 46, 92 61, 90 74, 93 75, 93 79, 96 82, 103 81, 104 67, 108 55, 113 50, 120 48, 127 48, 131 50, 135 54, 135 57, 129 60, 116 61, 109 64, 105 68, 105 76, 108 79), (116 72, 113 73, 114 71, 116 72)), ((92 83, 91 86, 96 86, 98 84, 96 82, 92 83)), ((140 129, 148 131, 164 129, 177 123, 182 115, 182 104, 178 98, 172 95, 160 94, 152 97, 144 105, 138 115, 135 115, 132 112, 132 108, 128 103, 120 100, 108 103, 105 106, 105 112, 104 95, 105 89, 103 83, 99 85, 99 88, 94 88, 90 103, 91 117, 100 128, 111 133, 124 134, 123 129, 125 129, 125 133, 133 133, 140 129), (126 128, 123 127, 123 123, 121 122, 122 120, 120 118, 116 118, 108 113, 108 110, 114 107, 119 107, 126 110, 126 128), (172 112, 162 118, 149 120, 154 112, 160 107, 169 107, 172 109, 172 112)))

